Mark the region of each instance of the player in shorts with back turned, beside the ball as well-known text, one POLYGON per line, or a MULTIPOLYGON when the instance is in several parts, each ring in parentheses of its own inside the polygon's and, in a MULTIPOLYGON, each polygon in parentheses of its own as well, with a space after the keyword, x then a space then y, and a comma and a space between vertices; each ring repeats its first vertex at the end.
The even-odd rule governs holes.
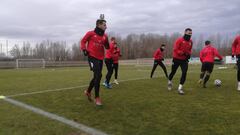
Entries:
POLYGON ((216 48, 212 47, 210 41, 205 41, 205 47, 200 51, 200 61, 202 62, 199 84, 203 82, 203 88, 206 88, 206 83, 213 71, 214 58, 218 57, 222 60, 216 48))

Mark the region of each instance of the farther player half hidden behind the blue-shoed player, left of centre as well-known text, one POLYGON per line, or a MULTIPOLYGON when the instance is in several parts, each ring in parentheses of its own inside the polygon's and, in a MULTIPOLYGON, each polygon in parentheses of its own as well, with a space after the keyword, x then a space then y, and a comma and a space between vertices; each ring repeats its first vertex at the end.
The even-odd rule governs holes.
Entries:
POLYGON ((114 52, 113 52, 113 70, 114 70, 114 76, 115 76, 115 79, 114 79, 114 83, 115 84, 119 84, 118 81, 117 81, 117 78, 118 78, 118 60, 119 60, 119 57, 121 57, 121 51, 120 49, 118 48, 117 46, 117 43, 114 44, 114 52))

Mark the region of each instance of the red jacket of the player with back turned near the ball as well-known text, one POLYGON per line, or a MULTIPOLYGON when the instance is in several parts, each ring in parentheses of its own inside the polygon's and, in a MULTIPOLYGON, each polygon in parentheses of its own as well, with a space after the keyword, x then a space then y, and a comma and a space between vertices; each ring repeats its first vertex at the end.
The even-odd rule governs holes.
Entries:
POLYGON ((216 48, 212 47, 212 45, 206 45, 201 51, 200 51, 200 61, 201 62, 214 62, 214 58, 217 56, 220 60, 222 60, 222 56, 219 55, 216 48))

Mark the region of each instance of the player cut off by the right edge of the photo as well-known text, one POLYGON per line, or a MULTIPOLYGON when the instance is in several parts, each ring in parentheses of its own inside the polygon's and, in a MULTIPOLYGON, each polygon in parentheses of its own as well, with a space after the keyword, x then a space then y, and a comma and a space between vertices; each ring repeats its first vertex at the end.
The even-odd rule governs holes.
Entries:
POLYGON ((232 43, 232 58, 234 58, 234 56, 237 58, 237 90, 240 91, 240 34, 237 35, 232 43))

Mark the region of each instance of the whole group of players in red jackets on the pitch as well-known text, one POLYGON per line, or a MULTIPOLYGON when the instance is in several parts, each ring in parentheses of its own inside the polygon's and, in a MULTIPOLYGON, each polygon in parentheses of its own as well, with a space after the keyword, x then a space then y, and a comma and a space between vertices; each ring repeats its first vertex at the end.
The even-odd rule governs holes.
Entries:
MULTIPOLYGON (((93 31, 89 31, 82 38, 80 43, 80 48, 83 51, 85 56, 88 56, 88 62, 91 71, 93 71, 93 78, 90 81, 89 87, 84 91, 89 101, 93 101, 91 96, 91 91, 95 89, 95 104, 101 106, 102 102, 99 96, 100 90, 100 81, 102 78, 102 67, 103 60, 105 56, 105 64, 107 67, 107 75, 103 85, 111 89, 110 79, 115 69, 115 80, 114 83, 118 84, 117 74, 118 74, 118 59, 121 56, 120 49, 116 43, 116 39, 112 37, 110 43, 108 36, 105 34, 107 29, 106 20, 104 16, 100 16, 100 19, 96 21, 96 28, 93 31), (106 49, 106 55, 104 55, 104 50, 106 49)), ((188 71, 188 62, 192 53, 193 42, 191 40, 192 29, 187 28, 184 31, 183 37, 178 38, 175 41, 173 48, 173 60, 171 72, 168 75, 167 69, 163 63, 164 60, 164 50, 165 44, 162 44, 154 52, 154 64, 150 77, 152 78, 154 71, 158 65, 160 65, 165 73, 166 78, 168 79, 168 90, 171 90, 173 87, 172 79, 178 69, 181 67, 182 75, 180 83, 178 86, 178 93, 183 95, 183 85, 186 80, 187 71, 188 71)), ((237 90, 240 91, 240 35, 237 36, 232 44, 232 58, 236 56, 237 58, 237 80, 238 87, 237 90)), ((216 48, 211 45, 210 41, 205 41, 205 47, 200 51, 200 61, 202 62, 199 84, 206 88, 206 83, 210 78, 210 75, 214 67, 214 58, 218 57, 219 60, 222 60, 222 56, 219 55, 216 48)))

